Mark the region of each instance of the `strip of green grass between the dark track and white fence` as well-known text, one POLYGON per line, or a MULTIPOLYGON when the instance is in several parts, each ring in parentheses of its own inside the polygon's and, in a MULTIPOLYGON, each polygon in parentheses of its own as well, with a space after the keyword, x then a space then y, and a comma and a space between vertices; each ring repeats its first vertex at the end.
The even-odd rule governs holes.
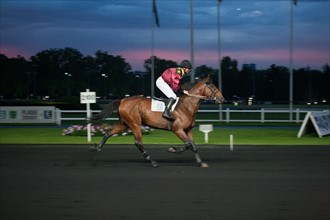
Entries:
MULTIPOLYGON (((0 144, 89 144, 86 136, 64 136, 60 127, 2 127, 0 144)), ((316 133, 297 138, 299 127, 216 127, 208 134, 208 144, 229 145, 230 135, 237 145, 325 145, 330 146, 330 136, 319 138, 316 133)), ((204 133, 194 128, 196 144, 206 144, 204 133)), ((91 143, 99 143, 102 137, 92 137, 91 143)), ((143 136, 144 144, 182 144, 170 131, 153 130, 143 136)), ((134 144, 132 135, 108 139, 107 144, 134 144)))

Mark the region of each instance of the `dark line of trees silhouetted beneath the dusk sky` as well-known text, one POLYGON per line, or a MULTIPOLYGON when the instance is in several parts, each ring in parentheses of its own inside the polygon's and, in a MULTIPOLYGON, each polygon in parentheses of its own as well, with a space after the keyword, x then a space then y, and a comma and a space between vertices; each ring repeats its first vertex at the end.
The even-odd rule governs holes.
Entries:
MULTIPOLYGON (((8 58, 0 54, 0 99, 50 99, 79 97, 89 88, 102 98, 125 95, 151 94, 151 57, 144 61, 145 71, 132 71, 131 65, 121 56, 96 51, 94 56, 84 56, 77 49, 48 49, 31 56, 8 58)), ((154 57, 155 79, 178 64, 154 57)), ((227 100, 254 97, 256 101, 289 101, 289 69, 271 65, 257 70, 245 65, 241 70, 231 57, 221 60, 222 93, 227 100)), ((218 86, 218 70, 201 65, 195 68, 195 77, 211 74, 218 86)), ((185 79, 187 80, 187 79, 185 79)), ((322 70, 309 67, 293 70, 293 100, 295 102, 330 100, 330 67, 322 70)), ((155 87, 155 95, 161 92, 155 87)))

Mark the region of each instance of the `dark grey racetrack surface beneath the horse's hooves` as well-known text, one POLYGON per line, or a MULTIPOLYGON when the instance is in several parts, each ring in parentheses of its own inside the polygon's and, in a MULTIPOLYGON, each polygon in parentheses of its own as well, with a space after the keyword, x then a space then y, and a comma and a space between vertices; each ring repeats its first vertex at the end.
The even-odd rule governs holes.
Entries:
POLYGON ((0 145, 0 219, 330 219, 330 147, 166 148, 0 145))

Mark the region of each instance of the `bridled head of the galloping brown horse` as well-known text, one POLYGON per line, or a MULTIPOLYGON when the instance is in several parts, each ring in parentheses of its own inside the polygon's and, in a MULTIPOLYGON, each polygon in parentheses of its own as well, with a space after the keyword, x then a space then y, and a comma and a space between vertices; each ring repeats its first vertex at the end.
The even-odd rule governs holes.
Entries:
POLYGON ((215 101, 220 104, 224 102, 224 97, 219 89, 213 84, 210 76, 206 77, 196 85, 199 89, 200 95, 205 96, 206 99, 215 101))

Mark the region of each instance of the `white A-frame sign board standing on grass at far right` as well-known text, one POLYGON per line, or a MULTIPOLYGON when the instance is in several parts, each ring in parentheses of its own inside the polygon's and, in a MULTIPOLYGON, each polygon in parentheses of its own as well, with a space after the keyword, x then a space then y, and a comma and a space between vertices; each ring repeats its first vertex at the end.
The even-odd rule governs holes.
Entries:
POLYGON ((330 112, 307 112, 298 137, 316 131, 319 137, 330 134, 330 112))

